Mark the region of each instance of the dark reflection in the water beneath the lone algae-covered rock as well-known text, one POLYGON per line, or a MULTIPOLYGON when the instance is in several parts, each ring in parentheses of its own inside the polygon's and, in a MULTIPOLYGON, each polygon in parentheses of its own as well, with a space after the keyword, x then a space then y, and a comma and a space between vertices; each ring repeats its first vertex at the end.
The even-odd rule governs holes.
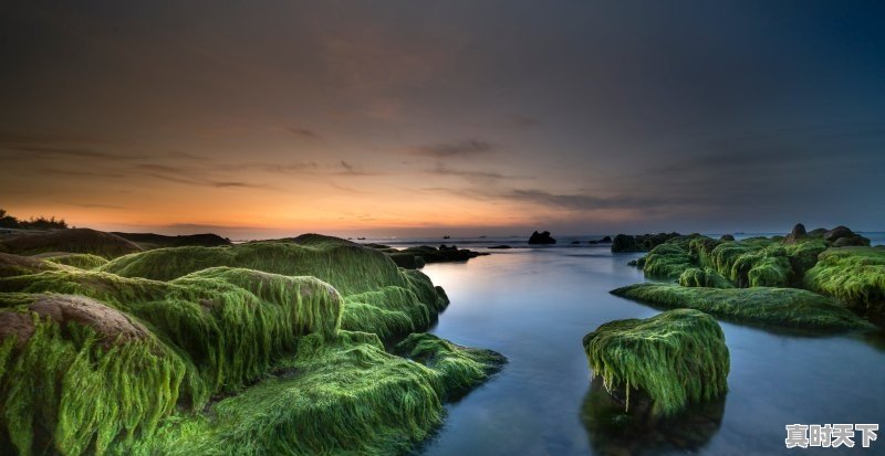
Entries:
POLYGON ((725 395, 696 404, 666 418, 650 414, 647 395, 631 392, 629 412, 625 412, 623 392, 610 394, 603 381, 594 377, 581 407, 581 421, 590 444, 600 455, 647 455, 697 452, 719 431, 726 411, 725 395))

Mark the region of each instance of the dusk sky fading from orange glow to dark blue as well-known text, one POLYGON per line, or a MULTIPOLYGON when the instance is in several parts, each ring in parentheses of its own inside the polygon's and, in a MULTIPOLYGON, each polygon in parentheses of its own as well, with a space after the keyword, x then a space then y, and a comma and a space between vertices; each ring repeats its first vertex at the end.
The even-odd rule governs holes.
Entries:
POLYGON ((102 230, 885 231, 877 1, 0 7, 0 208, 102 230))

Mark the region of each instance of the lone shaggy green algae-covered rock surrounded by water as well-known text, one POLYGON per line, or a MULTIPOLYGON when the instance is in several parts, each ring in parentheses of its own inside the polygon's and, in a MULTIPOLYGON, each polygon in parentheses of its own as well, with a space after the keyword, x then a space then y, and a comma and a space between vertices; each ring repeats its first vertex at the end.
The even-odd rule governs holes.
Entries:
POLYGON ((626 392, 625 410, 634 389, 650 397, 654 415, 673 415, 728 389, 725 336, 712 317, 698 310, 611 321, 583 342, 590 368, 606 390, 626 392))

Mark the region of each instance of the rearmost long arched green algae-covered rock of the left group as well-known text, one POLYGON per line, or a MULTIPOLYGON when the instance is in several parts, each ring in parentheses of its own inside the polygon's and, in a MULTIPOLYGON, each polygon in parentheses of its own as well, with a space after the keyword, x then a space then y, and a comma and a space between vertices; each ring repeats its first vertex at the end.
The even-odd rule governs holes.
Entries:
POLYGON ((448 305, 423 273, 400 269, 373 248, 317 234, 232 246, 158 248, 114 259, 101 271, 169 280, 215 266, 317 277, 344 297, 344 329, 375 332, 385 340, 429 328, 448 305))

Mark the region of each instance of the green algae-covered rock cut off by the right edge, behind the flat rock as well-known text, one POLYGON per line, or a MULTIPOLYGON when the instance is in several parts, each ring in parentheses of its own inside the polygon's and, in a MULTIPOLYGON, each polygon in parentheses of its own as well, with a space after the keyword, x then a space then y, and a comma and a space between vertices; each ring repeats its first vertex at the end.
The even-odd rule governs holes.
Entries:
POLYGON ((829 250, 805 274, 805 286, 885 320, 885 247, 829 250))

